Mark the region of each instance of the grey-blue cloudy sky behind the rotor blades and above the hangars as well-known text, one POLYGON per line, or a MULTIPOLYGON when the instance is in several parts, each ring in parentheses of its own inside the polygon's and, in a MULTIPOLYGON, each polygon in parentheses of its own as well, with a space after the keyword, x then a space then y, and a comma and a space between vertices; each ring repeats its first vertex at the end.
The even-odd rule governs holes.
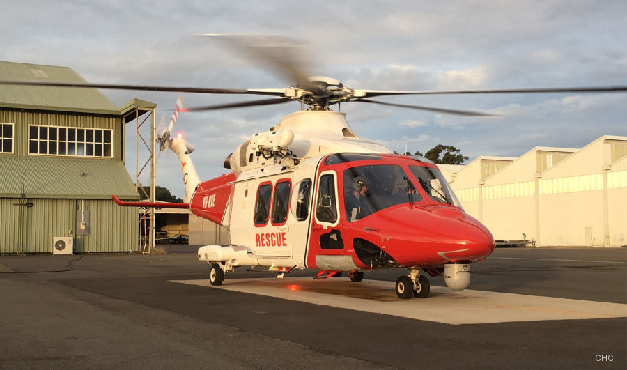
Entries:
MULTIPOLYGON (((88 82, 212 88, 285 88, 293 81, 200 33, 287 36, 307 50, 311 75, 350 88, 449 90, 627 85, 627 1, 36 1, 0 0, 0 61, 70 67, 88 82)), ((117 105, 177 93, 102 90, 117 105)), ((254 100, 183 94, 185 106, 254 100)), ((263 97, 261 97, 263 98, 263 97)), ((455 146, 519 157, 535 146, 582 148, 627 136, 627 93, 382 97, 400 104, 499 114, 467 118, 359 102, 341 105, 359 136, 397 152, 455 146)), ((181 114, 201 179, 297 102, 181 114)), ((134 128, 128 128, 130 135, 134 128), (130 131, 129 131, 130 130, 130 131)), ((144 133, 147 134, 147 133, 144 133)), ((127 168, 134 176, 134 140, 127 168)), ((141 163, 147 160, 140 149, 141 163)), ((141 182, 149 184, 147 173, 141 182)), ((161 153, 157 185, 183 197, 178 160, 161 153)))

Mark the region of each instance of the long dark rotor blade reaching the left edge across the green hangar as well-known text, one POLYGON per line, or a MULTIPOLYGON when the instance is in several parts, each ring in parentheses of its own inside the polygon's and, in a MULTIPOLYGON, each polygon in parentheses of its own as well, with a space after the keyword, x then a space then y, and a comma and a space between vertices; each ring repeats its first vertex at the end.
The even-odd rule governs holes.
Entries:
POLYGON ((233 88, 201 88, 201 87, 176 87, 176 86, 145 86, 123 84, 90 84, 88 82, 48 82, 48 81, 17 81, 0 80, 0 85, 29 85, 29 86, 53 86, 53 87, 79 87, 79 88, 111 88, 114 90, 140 90, 140 91, 167 91, 176 93, 206 93, 206 94, 256 94, 268 95, 254 91, 233 88))

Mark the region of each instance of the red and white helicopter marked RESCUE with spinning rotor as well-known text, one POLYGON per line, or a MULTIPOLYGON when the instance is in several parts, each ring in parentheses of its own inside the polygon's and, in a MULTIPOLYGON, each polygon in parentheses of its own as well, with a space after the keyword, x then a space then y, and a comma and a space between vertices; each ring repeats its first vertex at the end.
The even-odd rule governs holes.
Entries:
MULTIPOLYGON (((431 277, 460 291, 470 286, 471 265, 495 247, 492 234, 463 209, 437 165, 417 155, 398 155, 359 136, 342 102, 421 109, 460 116, 493 116, 477 111, 401 105, 374 97, 476 93, 624 92, 627 86, 514 88, 460 91, 382 91, 344 86, 332 77, 307 77, 283 47, 247 46, 263 61, 295 81, 288 88, 227 89, 65 82, 7 82, 116 88, 179 93, 252 94, 271 98, 176 109, 157 136, 160 150, 178 156, 185 185, 184 203, 137 203, 112 198, 121 206, 188 208, 229 230, 229 245, 205 245, 198 259, 208 263, 209 282, 219 286, 235 268, 274 272, 318 269, 325 279, 348 272, 353 282, 376 269, 405 270, 396 279, 398 298, 427 298, 431 277), (300 102, 300 111, 257 132, 224 160, 226 174, 201 181, 191 154, 194 146, 171 137, 179 114, 300 102)), ((164 125, 163 125, 164 126, 164 125)))

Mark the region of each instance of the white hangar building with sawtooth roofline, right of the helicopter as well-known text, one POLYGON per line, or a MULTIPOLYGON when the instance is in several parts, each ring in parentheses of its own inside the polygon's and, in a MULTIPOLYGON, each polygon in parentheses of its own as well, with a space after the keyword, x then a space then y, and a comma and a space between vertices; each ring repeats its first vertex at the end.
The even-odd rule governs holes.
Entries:
POLYGON ((584 148, 536 147, 443 171, 466 212, 495 240, 537 247, 627 245, 627 137, 584 148))

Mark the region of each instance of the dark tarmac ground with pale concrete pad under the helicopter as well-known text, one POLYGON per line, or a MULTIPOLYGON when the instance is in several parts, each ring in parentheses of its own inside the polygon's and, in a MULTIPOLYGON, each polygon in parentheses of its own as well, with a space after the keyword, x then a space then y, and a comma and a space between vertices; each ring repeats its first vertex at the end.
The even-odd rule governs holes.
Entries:
POLYGON ((627 249, 496 249, 470 288, 403 270, 219 287, 196 246, 167 254, 0 256, 0 369, 625 369, 627 249))

